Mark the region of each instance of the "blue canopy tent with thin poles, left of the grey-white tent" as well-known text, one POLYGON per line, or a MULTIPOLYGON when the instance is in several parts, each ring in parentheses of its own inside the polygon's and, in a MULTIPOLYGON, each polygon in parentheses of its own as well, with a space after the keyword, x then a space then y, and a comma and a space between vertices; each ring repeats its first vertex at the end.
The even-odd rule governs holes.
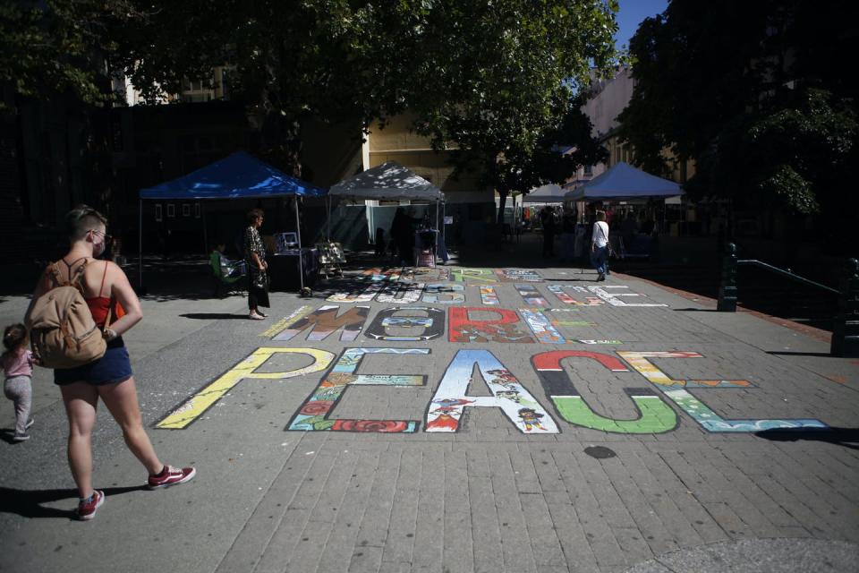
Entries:
MULTIPOLYGON (((326 190, 314 187, 296 179, 257 158, 236 151, 233 155, 220 159, 211 165, 201 167, 188 175, 173 181, 140 190, 140 236, 139 236, 139 276, 143 284, 143 200, 204 201, 217 199, 262 199, 267 197, 295 198, 295 227, 298 232, 298 248, 302 248, 301 227, 298 216, 298 197, 321 197, 326 190)), ((203 218, 203 233, 206 232, 206 218, 203 218)), ((299 277, 304 289, 302 257, 298 257, 299 277)))

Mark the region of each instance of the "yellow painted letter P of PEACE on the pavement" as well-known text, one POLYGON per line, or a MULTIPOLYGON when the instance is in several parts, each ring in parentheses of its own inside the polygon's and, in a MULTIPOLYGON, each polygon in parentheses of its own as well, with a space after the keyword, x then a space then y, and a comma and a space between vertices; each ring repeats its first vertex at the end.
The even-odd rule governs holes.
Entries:
POLYGON ((200 389, 155 425, 157 428, 167 430, 182 430, 244 379, 285 380, 304 376, 324 371, 332 360, 334 360, 332 353, 316 348, 257 348, 242 362, 200 389), (308 355, 313 358, 313 363, 288 372, 256 372, 263 363, 276 354, 308 355))

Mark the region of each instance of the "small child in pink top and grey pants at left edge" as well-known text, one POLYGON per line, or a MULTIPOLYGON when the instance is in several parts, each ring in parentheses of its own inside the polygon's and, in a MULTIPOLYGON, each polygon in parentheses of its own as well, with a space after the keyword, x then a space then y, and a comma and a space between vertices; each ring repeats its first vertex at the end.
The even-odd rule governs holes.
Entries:
POLYGON ((33 389, 33 354, 27 345, 30 337, 27 336, 27 328, 23 324, 7 326, 3 332, 3 372, 6 381, 3 391, 6 398, 13 400, 15 404, 15 435, 14 441, 30 440, 27 429, 33 425, 30 418, 30 406, 32 405, 33 389))

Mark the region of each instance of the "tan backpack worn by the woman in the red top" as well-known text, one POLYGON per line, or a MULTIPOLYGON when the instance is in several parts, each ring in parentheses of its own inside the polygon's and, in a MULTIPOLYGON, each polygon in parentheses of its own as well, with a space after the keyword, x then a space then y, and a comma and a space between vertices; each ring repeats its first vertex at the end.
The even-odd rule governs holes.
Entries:
MULTIPOLYGON (((55 286, 33 303, 27 329, 38 363, 46 368, 67 369, 94 362, 105 355, 107 343, 96 326, 81 294, 81 278, 87 262, 64 282, 55 262, 48 265, 55 286)), ((108 315, 108 321, 110 317, 108 315)))

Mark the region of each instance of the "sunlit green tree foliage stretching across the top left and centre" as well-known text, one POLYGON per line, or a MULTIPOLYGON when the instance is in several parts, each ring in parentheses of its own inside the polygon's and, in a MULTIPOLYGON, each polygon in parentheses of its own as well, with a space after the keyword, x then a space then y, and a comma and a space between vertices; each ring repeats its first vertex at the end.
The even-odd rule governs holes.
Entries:
POLYGON ((291 143, 303 117, 370 130, 404 111, 438 149, 453 145, 485 166, 498 157, 524 165, 548 133, 559 132, 591 67, 612 64, 617 29, 616 0, 3 6, 0 79, 15 81, 20 93, 72 90, 90 102, 104 99, 95 56, 155 103, 226 65, 231 98, 259 120, 268 146, 281 148, 282 167, 297 162, 291 143))

